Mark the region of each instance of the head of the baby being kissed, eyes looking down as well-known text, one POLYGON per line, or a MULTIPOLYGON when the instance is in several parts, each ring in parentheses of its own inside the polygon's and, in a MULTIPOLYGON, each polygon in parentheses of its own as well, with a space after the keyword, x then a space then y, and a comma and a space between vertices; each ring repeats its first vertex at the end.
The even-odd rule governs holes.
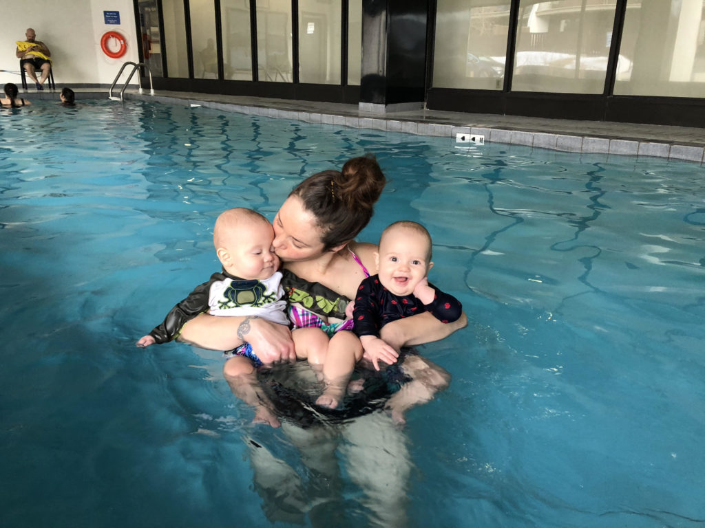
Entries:
POLYGON ((223 270, 240 279, 268 279, 279 268, 269 220, 245 208, 228 209, 216 220, 213 245, 223 270))

